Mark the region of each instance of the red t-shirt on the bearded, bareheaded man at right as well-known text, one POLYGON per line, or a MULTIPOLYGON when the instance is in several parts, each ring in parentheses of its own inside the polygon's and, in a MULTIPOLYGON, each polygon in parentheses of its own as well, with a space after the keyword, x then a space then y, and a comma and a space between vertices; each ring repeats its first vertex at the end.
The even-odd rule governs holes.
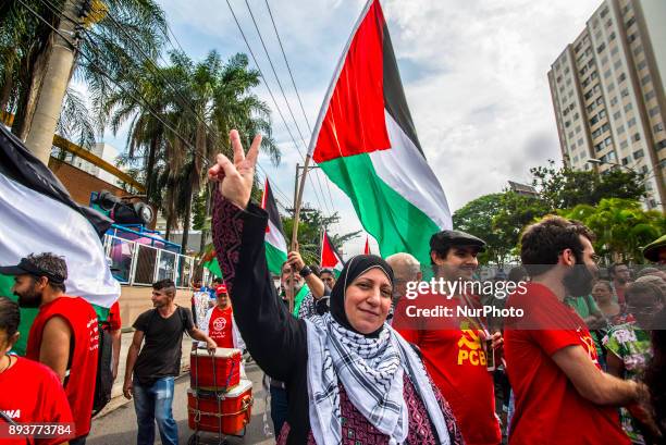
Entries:
POLYGON ((564 347, 581 346, 600 368, 582 319, 536 283, 528 284, 523 295, 509 296, 506 308, 523 309, 523 318, 530 320, 522 326, 531 327, 507 326, 504 334, 507 373, 516 394, 509 443, 629 444, 617 408, 583 398, 551 358, 564 347))

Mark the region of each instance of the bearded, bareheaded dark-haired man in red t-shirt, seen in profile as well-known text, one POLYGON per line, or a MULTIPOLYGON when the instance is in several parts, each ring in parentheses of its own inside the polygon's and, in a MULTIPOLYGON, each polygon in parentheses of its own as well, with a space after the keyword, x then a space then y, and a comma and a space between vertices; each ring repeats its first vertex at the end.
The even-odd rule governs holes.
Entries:
POLYGON ((628 444, 617 407, 648 399, 645 385, 601 370, 583 320, 564 304, 590 294, 597 272, 592 233, 546 217, 522 234, 520 257, 531 282, 509 296, 505 356, 516 394, 510 444, 628 444))

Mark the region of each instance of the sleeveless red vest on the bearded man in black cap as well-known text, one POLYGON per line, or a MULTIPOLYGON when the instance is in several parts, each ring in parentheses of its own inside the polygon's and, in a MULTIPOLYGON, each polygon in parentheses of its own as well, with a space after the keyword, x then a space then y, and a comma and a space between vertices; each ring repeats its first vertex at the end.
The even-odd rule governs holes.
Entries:
POLYGON ((70 358, 72 366, 64 388, 74 415, 75 436, 79 437, 90 432, 99 348, 97 314, 92 306, 81 297, 62 296, 41 306, 30 327, 26 358, 39 360, 44 326, 55 316, 66 320, 74 339, 74 351, 70 358))

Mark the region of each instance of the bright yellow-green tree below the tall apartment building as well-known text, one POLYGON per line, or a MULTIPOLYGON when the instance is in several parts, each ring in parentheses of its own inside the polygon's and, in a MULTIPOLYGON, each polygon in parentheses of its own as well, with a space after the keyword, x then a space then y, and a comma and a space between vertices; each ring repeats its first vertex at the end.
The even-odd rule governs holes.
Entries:
POLYGON ((559 213, 581 221, 594 232, 594 250, 606 262, 643 263, 642 247, 666 233, 664 213, 645 211, 631 199, 602 199, 597 206, 578 205, 559 213))

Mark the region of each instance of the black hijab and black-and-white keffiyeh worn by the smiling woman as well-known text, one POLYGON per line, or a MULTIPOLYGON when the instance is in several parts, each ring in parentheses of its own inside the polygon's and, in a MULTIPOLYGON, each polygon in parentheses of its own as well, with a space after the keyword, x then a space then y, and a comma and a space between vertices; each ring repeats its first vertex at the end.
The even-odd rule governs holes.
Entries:
POLYGON ((448 430, 423 362, 411 346, 388 324, 363 335, 345 313, 348 286, 372 269, 381 269, 393 282, 393 270, 380 257, 351 258, 331 293, 331 312, 306 320, 308 329, 308 398, 314 441, 320 445, 342 443, 338 384, 358 411, 390 444, 405 442, 409 412, 403 383, 407 371, 425 406, 441 444, 448 444, 448 430))

